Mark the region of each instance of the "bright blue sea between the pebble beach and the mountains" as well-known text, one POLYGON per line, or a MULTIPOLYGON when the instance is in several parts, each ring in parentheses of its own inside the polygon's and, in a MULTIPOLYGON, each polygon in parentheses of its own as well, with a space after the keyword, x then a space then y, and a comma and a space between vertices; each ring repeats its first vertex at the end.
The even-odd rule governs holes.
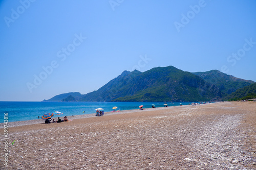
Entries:
POLYGON ((58 116, 72 116, 81 114, 96 113, 95 109, 104 109, 104 112, 111 112, 113 110, 133 110, 139 109, 139 106, 143 105, 143 108, 152 108, 152 105, 156 107, 164 107, 164 104, 168 106, 188 105, 191 102, 0 102, 0 123, 18 122, 24 120, 41 119, 41 116, 46 113, 54 113, 59 111, 63 113, 58 116), (117 109, 112 109, 113 107, 117 109))

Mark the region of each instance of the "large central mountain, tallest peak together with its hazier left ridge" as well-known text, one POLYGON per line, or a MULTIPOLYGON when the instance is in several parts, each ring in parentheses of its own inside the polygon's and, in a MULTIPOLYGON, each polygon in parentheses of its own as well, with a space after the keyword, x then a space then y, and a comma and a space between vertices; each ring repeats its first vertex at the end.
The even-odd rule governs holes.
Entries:
POLYGON ((99 90, 79 101, 209 101, 219 100, 221 92, 199 76, 173 66, 152 68, 145 72, 124 71, 99 90))

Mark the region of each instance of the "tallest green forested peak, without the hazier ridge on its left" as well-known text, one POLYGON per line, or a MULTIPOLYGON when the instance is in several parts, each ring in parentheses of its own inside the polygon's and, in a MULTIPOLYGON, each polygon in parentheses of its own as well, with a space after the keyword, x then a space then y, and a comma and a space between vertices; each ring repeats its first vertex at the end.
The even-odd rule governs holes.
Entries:
POLYGON ((142 72, 123 87, 128 91, 113 101, 208 101, 219 100, 221 92, 190 72, 173 66, 142 72))

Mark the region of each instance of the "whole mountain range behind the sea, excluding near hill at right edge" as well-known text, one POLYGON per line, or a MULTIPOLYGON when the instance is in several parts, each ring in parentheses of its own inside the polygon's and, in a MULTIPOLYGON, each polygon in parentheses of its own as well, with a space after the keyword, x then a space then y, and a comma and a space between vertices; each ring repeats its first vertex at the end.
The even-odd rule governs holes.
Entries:
POLYGON ((156 67, 145 72, 123 71, 96 91, 83 95, 77 92, 60 94, 48 101, 220 101, 231 92, 251 83, 254 82, 218 70, 192 74, 173 66, 156 67))

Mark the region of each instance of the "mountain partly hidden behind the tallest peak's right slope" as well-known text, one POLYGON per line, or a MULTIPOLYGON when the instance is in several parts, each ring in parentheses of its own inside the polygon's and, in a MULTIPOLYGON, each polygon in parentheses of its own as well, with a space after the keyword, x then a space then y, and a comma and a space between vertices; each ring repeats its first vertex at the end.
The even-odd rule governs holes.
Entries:
POLYGON ((201 77, 204 81, 216 85, 226 96, 252 83, 250 80, 239 79, 231 75, 224 74, 219 70, 210 70, 206 72, 193 72, 193 74, 201 77))

